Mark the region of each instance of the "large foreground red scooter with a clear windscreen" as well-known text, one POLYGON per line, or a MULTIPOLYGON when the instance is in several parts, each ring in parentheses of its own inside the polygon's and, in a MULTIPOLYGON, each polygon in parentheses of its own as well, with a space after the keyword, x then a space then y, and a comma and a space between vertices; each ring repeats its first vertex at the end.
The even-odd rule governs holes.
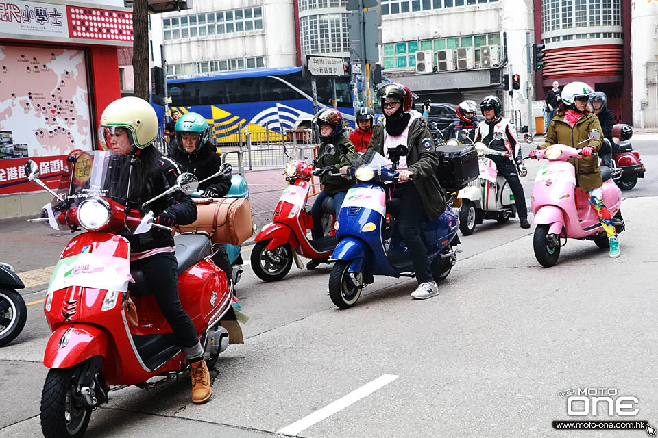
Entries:
MULTIPOLYGON (((29 160, 25 174, 55 196, 42 218, 55 229, 80 227, 62 251, 48 288, 45 315, 53 331, 43 363, 50 368, 41 397, 41 428, 46 438, 82 437, 90 415, 108 401, 110 385, 149 389, 187 369, 184 352, 160 312, 140 271, 130 270, 130 244, 122 235, 151 227, 153 214, 131 190, 143 183, 139 162, 109 151, 77 153, 73 170, 49 190, 29 160), (66 190, 62 190, 66 188, 66 190), (133 283, 134 282, 134 283, 133 283), (129 292, 130 291, 130 292, 129 292), (163 376, 156 383, 149 379, 163 376)), ((190 193, 198 181, 178 177, 175 190, 190 193)), ((156 198, 159 198, 159 195, 156 198)), ((155 198, 154 198, 155 199, 155 198)), ((175 237, 179 294, 204 346, 208 367, 229 343, 220 325, 232 305, 232 283, 212 262, 212 242, 202 233, 175 237)))

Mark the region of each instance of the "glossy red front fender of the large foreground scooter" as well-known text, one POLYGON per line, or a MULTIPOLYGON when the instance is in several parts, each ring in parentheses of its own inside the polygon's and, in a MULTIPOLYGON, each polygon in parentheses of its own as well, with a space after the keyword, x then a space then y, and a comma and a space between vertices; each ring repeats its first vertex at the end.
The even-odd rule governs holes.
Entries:
POLYGON ((47 368, 69 368, 90 357, 107 357, 109 335, 91 324, 64 324, 48 339, 43 364, 47 368))

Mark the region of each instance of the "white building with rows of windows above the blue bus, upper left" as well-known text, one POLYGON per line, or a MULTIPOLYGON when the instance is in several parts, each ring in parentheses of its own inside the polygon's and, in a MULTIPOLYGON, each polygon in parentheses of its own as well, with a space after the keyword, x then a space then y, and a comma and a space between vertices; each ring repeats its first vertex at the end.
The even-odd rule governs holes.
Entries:
POLYGON ((151 45, 167 77, 297 64, 295 0, 206 0, 151 16, 151 45))

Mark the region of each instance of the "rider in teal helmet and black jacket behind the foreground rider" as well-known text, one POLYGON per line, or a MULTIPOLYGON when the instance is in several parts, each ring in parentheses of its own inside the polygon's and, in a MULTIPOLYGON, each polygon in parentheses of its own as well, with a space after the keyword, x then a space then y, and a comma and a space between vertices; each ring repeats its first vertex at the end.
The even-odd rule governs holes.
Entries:
MULTIPOLYGON (((193 173, 199 181, 217 173, 221 166, 221 158, 217 155, 217 149, 208 140, 208 122, 195 112, 188 112, 178 118, 176 122, 176 139, 169 157, 175 159, 183 169, 183 172, 193 173)), ((231 179, 226 175, 219 175, 199 184, 204 196, 208 198, 222 198, 226 196, 231 188, 231 179)), ((228 280, 232 279, 232 266, 228 260, 226 249, 223 245, 215 246, 217 252, 212 256, 221 270, 226 273, 228 280)))

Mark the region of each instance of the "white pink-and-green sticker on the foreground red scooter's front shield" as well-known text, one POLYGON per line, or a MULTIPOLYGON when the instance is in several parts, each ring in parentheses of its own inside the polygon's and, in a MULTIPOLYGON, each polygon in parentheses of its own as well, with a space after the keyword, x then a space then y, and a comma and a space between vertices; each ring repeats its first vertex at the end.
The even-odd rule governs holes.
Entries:
POLYGON ((48 294, 71 286, 125 292, 130 275, 130 261, 123 257, 82 253, 58 261, 48 286, 48 294))

